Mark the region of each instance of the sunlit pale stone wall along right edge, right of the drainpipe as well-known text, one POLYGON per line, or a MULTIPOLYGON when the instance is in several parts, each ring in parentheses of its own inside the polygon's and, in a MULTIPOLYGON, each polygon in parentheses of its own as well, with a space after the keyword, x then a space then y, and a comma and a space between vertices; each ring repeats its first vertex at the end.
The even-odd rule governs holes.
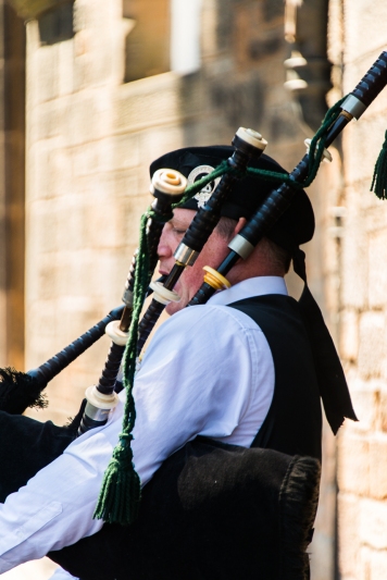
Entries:
MULTIPOLYGON (((330 10, 335 84, 342 83, 347 94, 386 49, 387 7, 332 0, 330 10)), ((387 206, 370 193, 386 126, 385 90, 342 135, 339 344, 359 417, 346 422, 337 445, 342 580, 382 580, 387 573, 387 206)))

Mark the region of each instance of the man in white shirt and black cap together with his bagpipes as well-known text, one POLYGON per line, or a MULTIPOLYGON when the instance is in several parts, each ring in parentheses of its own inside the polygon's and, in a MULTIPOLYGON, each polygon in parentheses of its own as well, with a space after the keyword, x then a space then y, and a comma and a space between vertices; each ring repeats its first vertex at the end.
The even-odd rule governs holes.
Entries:
MULTIPOLYGON (((237 132, 234 149, 180 149, 152 163, 153 178, 160 171, 170 185, 187 177, 191 195, 170 219, 163 209, 170 189, 152 186, 160 207, 141 222, 136 282, 127 285, 118 326, 109 331, 113 346, 97 392, 88 392, 82 422, 74 421, 80 436, 75 439, 74 424, 20 417, 11 393, 15 375, 2 370, 11 383, 2 385, 7 396, 0 394, 0 491, 2 499, 8 495, 0 506, 0 572, 48 554, 82 580, 307 580, 320 399, 335 433, 345 417, 355 416, 307 285, 299 246, 313 236, 314 218, 302 187, 322 157, 329 158, 325 147, 386 84, 383 52, 328 111, 290 175, 262 155, 263 139, 249 129, 237 132), (166 280, 151 285, 155 298, 138 326, 155 256, 148 218, 168 220, 158 243, 166 280), (299 301, 284 282, 290 260, 305 282, 299 301), (171 301, 173 316, 134 378, 150 322, 171 301), (126 341, 126 392, 116 396, 108 386, 118 384, 114 369, 126 341), (29 460, 17 465, 29 441, 29 460)), ((386 150, 374 176, 379 197, 386 193, 386 150)), ((55 368, 62 358, 68 363, 70 350, 50 359, 55 368)), ((27 373, 27 391, 45 373, 40 386, 34 384, 46 386, 48 367, 27 373)))

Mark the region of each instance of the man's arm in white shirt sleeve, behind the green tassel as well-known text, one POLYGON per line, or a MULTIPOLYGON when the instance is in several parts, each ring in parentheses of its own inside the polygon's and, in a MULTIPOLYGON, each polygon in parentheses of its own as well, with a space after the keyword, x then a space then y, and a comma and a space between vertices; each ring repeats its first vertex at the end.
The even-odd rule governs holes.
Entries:
MULTIPOLYGON (((155 334, 134 391, 134 461, 142 485, 166 457, 197 434, 223 439, 238 431, 251 385, 259 381, 252 345, 269 348, 264 337, 251 337, 252 331, 262 335, 258 326, 251 322, 250 332, 238 316, 224 307, 187 309, 155 334)), ((262 372, 266 372, 264 365, 262 372)), ((121 431, 122 410, 121 403, 104 428, 76 440, 0 506, 0 572, 101 528, 92 514, 121 431)), ((246 445, 255 432, 257 425, 246 445)))

